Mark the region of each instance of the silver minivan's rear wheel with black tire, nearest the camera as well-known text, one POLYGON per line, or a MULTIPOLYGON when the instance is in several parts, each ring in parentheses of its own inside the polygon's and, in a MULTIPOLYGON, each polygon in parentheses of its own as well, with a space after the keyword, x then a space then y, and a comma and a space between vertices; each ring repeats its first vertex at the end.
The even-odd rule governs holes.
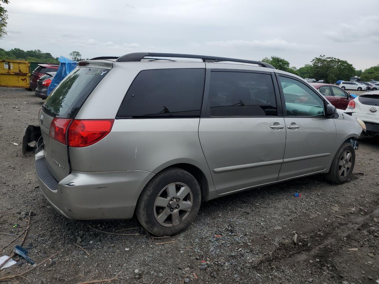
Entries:
POLYGON ((139 223, 156 236, 173 236, 196 218, 201 204, 199 183, 189 172, 171 168, 155 175, 136 208, 139 223))

